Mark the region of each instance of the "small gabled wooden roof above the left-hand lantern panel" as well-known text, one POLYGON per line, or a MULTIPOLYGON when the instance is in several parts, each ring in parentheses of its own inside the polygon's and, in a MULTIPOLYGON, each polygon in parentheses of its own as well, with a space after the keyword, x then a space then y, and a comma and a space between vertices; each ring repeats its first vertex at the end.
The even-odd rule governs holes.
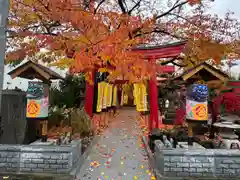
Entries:
POLYGON ((38 64, 33 61, 27 61, 26 63, 20 65, 14 70, 10 71, 8 75, 12 79, 16 77, 21 77, 25 79, 40 79, 40 80, 54 80, 54 79, 64 79, 61 75, 54 72, 53 70, 38 64))

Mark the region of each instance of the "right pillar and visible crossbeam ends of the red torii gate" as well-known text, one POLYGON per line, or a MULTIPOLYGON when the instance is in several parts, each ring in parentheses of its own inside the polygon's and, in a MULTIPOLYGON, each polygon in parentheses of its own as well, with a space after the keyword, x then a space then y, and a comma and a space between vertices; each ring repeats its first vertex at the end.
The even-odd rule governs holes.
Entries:
MULTIPOLYGON (((183 52, 186 42, 176 42, 167 45, 152 46, 152 47, 139 47, 133 49, 135 52, 139 52, 144 55, 145 59, 152 64, 156 64, 156 61, 161 58, 174 58, 183 52)), ((157 76, 156 73, 161 71, 163 73, 174 72, 174 66, 153 66, 153 76, 149 81, 149 95, 150 95, 150 119, 149 119, 149 132, 152 128, 159 127, 158 119, 158 91, 157 91, 157 76), (155 122, 155 127, 153 127, 155 122)))

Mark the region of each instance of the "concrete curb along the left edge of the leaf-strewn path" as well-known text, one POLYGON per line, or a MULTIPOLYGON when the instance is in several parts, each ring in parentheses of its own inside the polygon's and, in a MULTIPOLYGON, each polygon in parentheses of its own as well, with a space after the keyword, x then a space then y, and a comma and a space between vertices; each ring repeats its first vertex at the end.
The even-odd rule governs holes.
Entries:
POLYGON ((96 135, 92 141, 90 142, 89 146, 87 147, 87 149, 85 150, 85 152, 81 155, 80 159, 78 160, 78 162, 76 163, 77 166, 74 167, 71 172, 70 175, 73 176, 73 178, 75 179, 76 174, 78 173, 78 171, 80 171, 82 165, 84 164, 85 160, 87 159, 87 157, 89 156, 92 148, 94 145, 97 144, 97 142, 100 140, 101 135, 96 135))

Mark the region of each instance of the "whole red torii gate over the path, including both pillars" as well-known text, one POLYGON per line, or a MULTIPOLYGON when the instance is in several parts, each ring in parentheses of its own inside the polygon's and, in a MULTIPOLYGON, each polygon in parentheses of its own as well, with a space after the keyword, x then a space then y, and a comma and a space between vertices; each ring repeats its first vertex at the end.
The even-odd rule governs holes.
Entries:
MULTIPOLYGON (((177 42, 167 45, 153 46, 153 47, 138 47, 134 48, 132 51, 141 53, 144 55, 145 59, 152 64, 156 64, 156 60, 161 58, 174 58, 180 55, 185 47, 186 42, 177 42)), ((149 119, 149 132, 151 132, 154 122, 155 127, 159 127, 158 120, 158 92, 157 92, 157 72, 171 73, 174 72, 174 66, 153 66, 153 76, 149 81, 149 94, 150 94, 150 119, 149 119)), ((92 80, 94 82, 95 70, 92 71, 92 80)), ((86 95, 85 95, 85 110, 90 117, 93 116, 93 96, 94 96, 94 85, 86 84, 86 95)))

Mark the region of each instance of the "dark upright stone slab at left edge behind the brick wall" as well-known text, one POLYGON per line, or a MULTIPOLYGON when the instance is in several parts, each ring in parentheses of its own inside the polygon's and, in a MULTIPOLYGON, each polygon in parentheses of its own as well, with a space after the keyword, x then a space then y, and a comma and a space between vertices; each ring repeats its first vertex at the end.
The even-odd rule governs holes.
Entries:
MULTIPOLYGON (((2 91, 0 144, 23 144, 26 138, 26 94, 14 90, 2 91)), ((35 138, 35 137, 34 137, 35 138)))

